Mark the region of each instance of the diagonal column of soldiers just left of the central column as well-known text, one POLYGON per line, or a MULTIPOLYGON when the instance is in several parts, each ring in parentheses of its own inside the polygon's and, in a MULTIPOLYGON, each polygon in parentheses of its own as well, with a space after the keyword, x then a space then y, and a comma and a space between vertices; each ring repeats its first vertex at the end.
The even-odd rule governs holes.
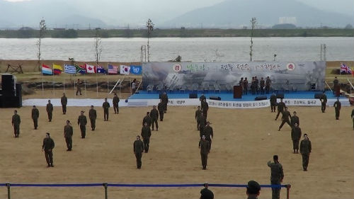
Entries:
POLYGON ((149 152, 152 130, 156 129, 156 131, 159 131, 159 118, 160 122, 164 121, 164 114, 167 113, 168 103, 169 96, 167 96, 166 93, 163 93, 161 95, 160 103, 157 105, 157 109, 156 106, 152 106, 152 110, 147 112, 147 115, 142 119, 142 132, 140 135, 137 135, 137 138, 133 143, 133 152, 137 159, 137 169, 142 168, 142 154, 143 152, 149 152), (140 136, 142 137, 142 140, 140 136))

